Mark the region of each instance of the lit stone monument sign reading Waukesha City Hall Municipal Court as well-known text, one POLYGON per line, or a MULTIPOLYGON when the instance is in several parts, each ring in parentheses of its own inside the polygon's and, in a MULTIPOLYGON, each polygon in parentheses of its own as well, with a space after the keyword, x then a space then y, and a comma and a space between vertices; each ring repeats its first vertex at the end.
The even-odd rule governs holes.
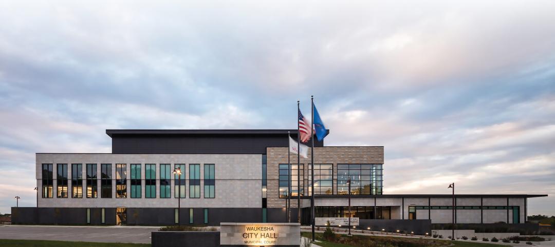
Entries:
POLYGON ((221 223, 220 245, 299 246, 299 223, 221 223))

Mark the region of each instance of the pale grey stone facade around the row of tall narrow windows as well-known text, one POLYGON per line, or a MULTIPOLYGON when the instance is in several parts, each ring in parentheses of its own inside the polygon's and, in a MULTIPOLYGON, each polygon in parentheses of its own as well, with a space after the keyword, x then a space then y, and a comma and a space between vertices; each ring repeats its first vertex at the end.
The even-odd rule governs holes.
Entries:
POLYGON ((39 207, 66 208, 176 208, 177 199, 174 198, 173 175, 171 176, 171 198, 160 198, 159 179, 160 163, 170 164, 200 164, 200 198, 189 198, 189 168, 185 171, 186 198, 181 199, 182 208, 261 208, 262 207, 262 156, 261 155, 123 155, 112 153, 37 153, 36 178, 37 187, 42 188, 42 164, 53 164, 53 198, 42 198, 39 191, 39 207), (68 198, 56 197, 56 164, 68 164, 68 198), (71 198, 71 164, 83 164, 83 178, 86 176, 87 163, 97 164, 98 198, 86 198, 86 182, 83 179, 83 198, 71 198), (112 179, 115 179, 115 164, 127 164, 127 198, 115 198, 115 182, 112 183, 113 198, 100 197, 100 164, 112 164, 112 179), (142 164, 141 198, 130 197, 130 164, 142 164), (156 164, 157 198, 145 198, 144 165, 156 164), (214 164, 215 198, 204 198, 204 169, 203 164, 214 164))

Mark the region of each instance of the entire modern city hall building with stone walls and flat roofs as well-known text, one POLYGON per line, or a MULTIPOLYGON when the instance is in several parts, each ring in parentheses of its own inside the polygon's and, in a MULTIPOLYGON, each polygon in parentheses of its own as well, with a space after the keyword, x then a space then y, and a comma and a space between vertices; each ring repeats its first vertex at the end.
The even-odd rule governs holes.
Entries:
MULTIPOLYGON (((300 164, 291 153, 289 174, 288 132, 296 139, 297 130, 107 130, 112 153, 37 153, 37 208, 12 208, 12 222, 282 223, 289 178, 291 222, 297 222, 300 193, 303 224, 310 224, 312 193, 316 217, 350 215, 361 225, 452 223, 453 211, 456 223, 518 224, 526 222, 528 198, 547 196, 456 194, 453 210, 451 194, 386 194, 383 146, 320 141, 313 192, 310 153, 300 164), (173 173, 176 168, 180 175, 173 173)), ((447 186, 446 191, 451 192, 447 186)))

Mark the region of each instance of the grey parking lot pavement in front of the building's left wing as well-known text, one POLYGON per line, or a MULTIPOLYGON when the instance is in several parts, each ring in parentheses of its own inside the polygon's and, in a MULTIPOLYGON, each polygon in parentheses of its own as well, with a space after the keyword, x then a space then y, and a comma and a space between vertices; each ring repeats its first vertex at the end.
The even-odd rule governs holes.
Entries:
POLYGON ((53 225, 0 225, 0 239, 33 239, 103 243, 150 244, 159 227, 72 227, 53 225))

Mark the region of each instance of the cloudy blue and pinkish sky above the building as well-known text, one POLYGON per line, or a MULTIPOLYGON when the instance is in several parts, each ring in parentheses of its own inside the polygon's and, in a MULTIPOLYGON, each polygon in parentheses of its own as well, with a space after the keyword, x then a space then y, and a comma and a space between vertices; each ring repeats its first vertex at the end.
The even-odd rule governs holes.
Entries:
POLYGON ((0 212, 34 153, 107 128, 295 128, 385 146, 385 193, 549 194, 555 1, 0 1, 0 212), (154 3, 157 2, 157 3, 154 3))

